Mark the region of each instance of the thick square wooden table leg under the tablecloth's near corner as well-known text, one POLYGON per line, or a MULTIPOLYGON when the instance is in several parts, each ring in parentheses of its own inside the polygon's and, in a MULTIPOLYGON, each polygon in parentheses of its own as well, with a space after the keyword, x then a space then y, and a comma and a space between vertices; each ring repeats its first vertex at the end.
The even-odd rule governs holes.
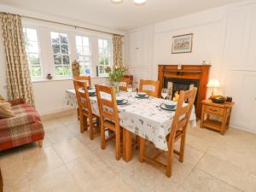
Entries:
POLYGON ((125 162, 131 160, 131 131, 123 129, 123 159, 125 162))

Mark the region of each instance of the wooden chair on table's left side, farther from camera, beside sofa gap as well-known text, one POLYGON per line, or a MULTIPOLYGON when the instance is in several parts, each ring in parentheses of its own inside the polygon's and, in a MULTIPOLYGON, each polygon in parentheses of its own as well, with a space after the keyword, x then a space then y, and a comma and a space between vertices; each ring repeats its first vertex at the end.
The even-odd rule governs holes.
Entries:
POLYGON ((97 119, 98 117, 95 114, 93 114, 91 110, 87 83, 81 82, 79 80, 73 80, 73 84, 75 87, 76 97, 79 104, 80 131, 81 133, 83 133, 88 129, 87 119, 89 119, 90 139, 92 140, 94 138, 94 128, 96 128, 96 126, 94 125, 94 119, 97 119))

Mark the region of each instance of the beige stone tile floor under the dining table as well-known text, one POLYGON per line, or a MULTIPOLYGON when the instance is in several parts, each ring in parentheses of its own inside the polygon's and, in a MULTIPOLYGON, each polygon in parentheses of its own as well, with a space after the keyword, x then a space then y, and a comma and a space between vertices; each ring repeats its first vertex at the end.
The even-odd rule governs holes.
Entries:
POLYGON ((189 128, 185 161, 171 178, 138 153, 116 161, 114 145, 100 148, 79 133, 76 115, 44 120, 44 147, 33 143, 0 154, 4 192, 177 191, 256 192, 256 135, 230 128, 225 136, 189 128))

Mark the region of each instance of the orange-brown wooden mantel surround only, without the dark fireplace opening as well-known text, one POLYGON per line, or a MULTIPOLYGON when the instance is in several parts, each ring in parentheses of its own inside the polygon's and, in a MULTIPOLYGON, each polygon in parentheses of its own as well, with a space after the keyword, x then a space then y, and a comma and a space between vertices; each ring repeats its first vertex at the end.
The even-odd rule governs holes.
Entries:
POLYGON ((195 113, 196 117, 201 117, 201 101, 207 96, 207 83, 210 73, 210 65, 182 65, 181 69, 178 65, 162 65, 158 66, 158 80, 160 81, 159 96, 164 85, 165 78, 175 79, 193 79, 199 81, 198 96, 196 101, 195 113))

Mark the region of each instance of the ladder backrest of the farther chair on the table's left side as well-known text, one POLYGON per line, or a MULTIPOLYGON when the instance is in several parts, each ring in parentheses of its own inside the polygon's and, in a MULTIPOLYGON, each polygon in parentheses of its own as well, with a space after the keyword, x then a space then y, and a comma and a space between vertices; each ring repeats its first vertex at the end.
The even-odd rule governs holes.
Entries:
POLYGON ((76 91, 79 110, 82 111, 85 109, 89 113, 92 113, 87 83, 85 81, 73 80, 73 84, 76 91))

